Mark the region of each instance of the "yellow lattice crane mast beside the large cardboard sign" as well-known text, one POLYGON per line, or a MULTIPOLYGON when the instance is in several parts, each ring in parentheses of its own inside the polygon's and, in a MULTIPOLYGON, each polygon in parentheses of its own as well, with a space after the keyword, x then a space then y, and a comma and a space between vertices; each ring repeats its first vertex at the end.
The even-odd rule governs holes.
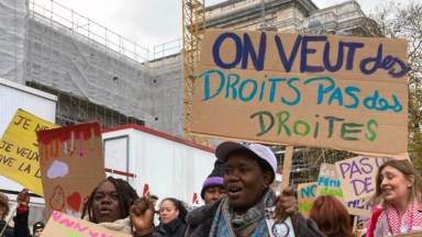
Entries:
POLYGON ((198 78, 200 44, 206 31, 206 0, 181 0, 184 22, 185 139, 209 146, 208 137, 189 134, 190 108, 198 78))

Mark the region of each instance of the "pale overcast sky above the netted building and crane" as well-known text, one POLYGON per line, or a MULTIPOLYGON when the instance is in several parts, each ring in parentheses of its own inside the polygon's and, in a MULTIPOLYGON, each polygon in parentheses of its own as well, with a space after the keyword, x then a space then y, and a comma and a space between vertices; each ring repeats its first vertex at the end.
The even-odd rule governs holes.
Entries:
MULTIPOLYGON (((51 9, 51 0, 31 0, 51 9)), ((54 0, 74 9, 90 20, 107 26, 122 36, 148 47, 181 38, 181 0, 54 0)), ((212 5, 225 0, 206 0, 212 5)), ((381 0, 357 0, 364 12, 373 10, 381 0)), ((396 2, 407 3, 410 0, 396 2)), ((418 0, 417 0, 418 1, 418 0)), ((344 0, 313 0, 320 8, 327 8, 344 0)), ((55 7, 54 12, 59 12, 55 7)), ((60 12, 70 20, 70 14, 60 12)), ((80 22, 79 22, 80 23, 80 22)))

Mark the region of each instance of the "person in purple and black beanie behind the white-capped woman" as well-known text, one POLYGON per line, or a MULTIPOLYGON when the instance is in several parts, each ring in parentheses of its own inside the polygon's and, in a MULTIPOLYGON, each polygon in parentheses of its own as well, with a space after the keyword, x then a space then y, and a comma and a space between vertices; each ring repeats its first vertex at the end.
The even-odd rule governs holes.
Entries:
POLYGON ((223 185, 224 163, 216 160, 211 174, 203 181, 201 198, 206 204, 211 204, 220 198, 226 196, 223 185))

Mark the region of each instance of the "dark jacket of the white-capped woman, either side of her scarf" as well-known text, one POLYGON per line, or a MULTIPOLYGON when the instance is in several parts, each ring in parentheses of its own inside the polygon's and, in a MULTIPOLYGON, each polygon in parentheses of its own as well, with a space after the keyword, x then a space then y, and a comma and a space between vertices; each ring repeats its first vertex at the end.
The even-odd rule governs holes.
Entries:
MULTIPOLYGON (((222 199, 191 211, 186 217, 188 229, 186 237, 208 237, 210 235, 212 222, 222 199)), ((307 219, 301 213, 298 214, 298 233, 296 237, 325 237, 318 230, 316 224, 312 219, 307 219)))

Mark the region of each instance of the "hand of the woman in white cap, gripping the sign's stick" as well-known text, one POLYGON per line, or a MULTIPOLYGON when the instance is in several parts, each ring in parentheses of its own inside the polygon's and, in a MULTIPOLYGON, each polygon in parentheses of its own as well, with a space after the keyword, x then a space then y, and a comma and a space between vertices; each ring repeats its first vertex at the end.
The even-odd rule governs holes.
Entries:
POLYGON ((293 196, 295 187, 286 188, 281 194, 276 196, 273 217, 275 223, 284 223, 290 216, 295 233, 298 233, 298 201, 293 196))

